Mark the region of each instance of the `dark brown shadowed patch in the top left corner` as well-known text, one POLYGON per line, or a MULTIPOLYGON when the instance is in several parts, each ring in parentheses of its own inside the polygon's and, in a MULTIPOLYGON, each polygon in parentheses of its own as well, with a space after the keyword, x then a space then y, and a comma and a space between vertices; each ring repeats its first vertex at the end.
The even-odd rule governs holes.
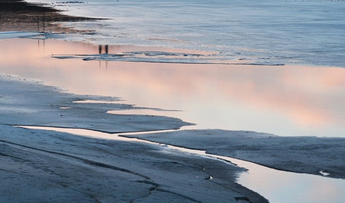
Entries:
MULTIPOLYGON (((0 31, 72 32, 72 28, 59 27, 56 22, 97 20, 61 14, 43 4, 29 4, 21 0, 0 0, 0 31), (55 23, 55 24, 53 24, 55 23)), ((80 30, 79 30, 80 31, 80 30)))

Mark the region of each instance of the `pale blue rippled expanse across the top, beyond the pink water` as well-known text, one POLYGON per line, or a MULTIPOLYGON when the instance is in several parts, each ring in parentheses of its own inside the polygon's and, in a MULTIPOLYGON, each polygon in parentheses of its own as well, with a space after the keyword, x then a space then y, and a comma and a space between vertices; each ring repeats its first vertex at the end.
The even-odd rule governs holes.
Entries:
POLYGON ((224 59, 245 58, 261 64, 345 67, 345 1, 83 2, 56 8, 109 20, 65 23, 95 31, 68 35, 68 39, 215 50, 224 59))

